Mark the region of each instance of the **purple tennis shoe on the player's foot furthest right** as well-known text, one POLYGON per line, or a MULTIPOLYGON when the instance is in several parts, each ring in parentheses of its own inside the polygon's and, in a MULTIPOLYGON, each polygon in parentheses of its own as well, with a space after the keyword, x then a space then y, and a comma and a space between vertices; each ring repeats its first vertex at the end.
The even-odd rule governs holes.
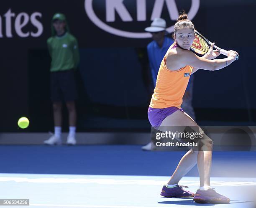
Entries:
POLYGON ((213 189, 198 189, 193 199, 196 203, 228 204, 230 199, 220 195, 213 189))

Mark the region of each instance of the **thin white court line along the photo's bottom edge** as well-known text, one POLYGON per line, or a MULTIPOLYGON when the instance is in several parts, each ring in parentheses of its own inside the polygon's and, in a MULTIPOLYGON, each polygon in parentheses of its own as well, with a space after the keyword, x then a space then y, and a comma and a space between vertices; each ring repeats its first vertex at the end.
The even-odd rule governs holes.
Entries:
POLYGON ((63 205, 63 204, 31 204, 31 206, 45 206, 45 207, 89 207, 89 208, 159 208, 159 207, 151 207, 151 206, 109 206, 109 205, 63 205))

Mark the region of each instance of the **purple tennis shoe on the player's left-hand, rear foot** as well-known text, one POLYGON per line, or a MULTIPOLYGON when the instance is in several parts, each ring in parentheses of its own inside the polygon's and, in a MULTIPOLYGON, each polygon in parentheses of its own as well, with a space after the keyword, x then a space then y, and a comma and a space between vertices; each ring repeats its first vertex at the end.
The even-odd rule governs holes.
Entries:
POLYGON ((166 185, 163 186, 160 195, 165 197, 194 197, 195 193, 184 190, 184 188, 188 188, 184 185, 176 185, 173 188, 168 188, 166 185))

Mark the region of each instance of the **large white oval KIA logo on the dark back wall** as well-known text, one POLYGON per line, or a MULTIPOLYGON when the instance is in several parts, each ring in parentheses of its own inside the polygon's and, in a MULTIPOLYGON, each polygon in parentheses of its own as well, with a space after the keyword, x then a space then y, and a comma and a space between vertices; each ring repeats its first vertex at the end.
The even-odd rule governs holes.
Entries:
MULTIPOLYGON (((131 22, 131 21, 137 21, 142 22, 146 21, 146 0, 136 0, 136 7, 134 7, 137 11, 137 19, 133 19, 123 4, 123 0, 105 0, 106 5, 106 19, 105 22, 100 20, 100 18, 97 17, 95 11, 93 10, 92 6, 93 0, 84 0, 84 8, 85 12, 87 13, 90 20, 97 25, 97 27, 101 28, 102 30, 105 30, 108 33, 111 33, 116 36, 122 36, 125 38, 151 38, 150 33, 136 33, 136 32, 129 32, 120 30, 117 28, 113 28, 110 25, 106 24, 105 22, 115 22, 115 15, 119 15, 120 19, 123 22, 131 22), (139 13, 138 13, 139 11, 139 13)), ((179 1, 177 1, 179 2, 179 1)), ((177 5, 175 0, 155 0, 154 2, 154 8, 152 10, 151 14, 151 21, 154 20, 154 18, 160 18, 161 13, 164 7, 164 3, 167 6, 169 16, 171 20, 177 20, 179 17, 179 11, 177 9, 177 5)), ((199 9, 200 0, 191 0, 191 7, 188 12, 188 18, 192 20, 195 15, 197 14, 197 11, 199 9)), ((168 21, 167 21, 168 23, 168 21)), ((167 26, 166 31, 169 33, 172 33, 174 30, 174 25, 167 26)))

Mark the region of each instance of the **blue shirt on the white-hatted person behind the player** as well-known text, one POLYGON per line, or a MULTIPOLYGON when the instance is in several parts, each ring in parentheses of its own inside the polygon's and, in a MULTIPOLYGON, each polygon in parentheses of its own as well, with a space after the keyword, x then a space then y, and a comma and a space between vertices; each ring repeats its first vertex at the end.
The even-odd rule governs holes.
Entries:
MULTIPOLYGON (((168 37, 164 37, 162 48, 159 47, 156 41, 151 41, 150 43, 148 43, 148 46, 147 46, 148 60, 149 60, 149 66, 152 74, 154 87, 156 86, 156 78, 157 78, 161 61, 163 60, 164 55, 166 54, 166 52, 168 51, 172 43, 174 43, 174 41, 168 37)), ((187 86, 187 89, 188 88, 189 88, 189 85, 187 86)))

